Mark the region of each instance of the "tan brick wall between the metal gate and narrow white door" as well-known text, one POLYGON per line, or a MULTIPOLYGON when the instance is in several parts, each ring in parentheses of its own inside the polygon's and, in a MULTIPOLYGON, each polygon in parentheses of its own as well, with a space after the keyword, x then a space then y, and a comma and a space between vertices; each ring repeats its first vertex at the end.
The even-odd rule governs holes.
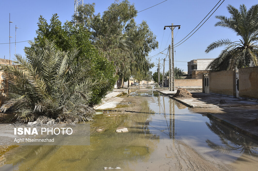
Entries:
MULTIPOLYGON (((240 74, 239 74, 240 75, 240 74)), ((209 92, 236 96, 236 71, 209 72, 209 92)))

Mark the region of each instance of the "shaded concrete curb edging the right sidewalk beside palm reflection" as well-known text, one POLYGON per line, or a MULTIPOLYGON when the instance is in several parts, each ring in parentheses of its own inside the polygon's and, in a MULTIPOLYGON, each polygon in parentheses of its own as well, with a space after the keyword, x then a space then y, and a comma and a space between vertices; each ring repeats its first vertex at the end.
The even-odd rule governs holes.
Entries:
POLYGON ((207 113, 207 117, 208 117, 208 118, 215 119, 215 120, 221 122, 222 124, 225 124, 225 125, 227 125, 227 126, 233 128, 233 129, 235 129, 235 130, 237 130, 237 131, 239 131, 239 132, 241 132, 241 133, 243 133, 243 134, 245 134, 245 135, 248 135, 248 136, 250 136, 250 137, 252 137, 252 138, 258 140, 258 136, 257 136, 257 135, 252 134, 251 132, 248 132, 247 130, 242 129, 242 128, 240 128, 240 127, 234 125, 232 122, 230 122, 230 121, 228 121, 228 120, 225 120, 225 119, 222 119, 222 118, 220 118, 220 117, 217 117, 217 116, 215 116, 214 114, 211 114, 211 113, 207 113))

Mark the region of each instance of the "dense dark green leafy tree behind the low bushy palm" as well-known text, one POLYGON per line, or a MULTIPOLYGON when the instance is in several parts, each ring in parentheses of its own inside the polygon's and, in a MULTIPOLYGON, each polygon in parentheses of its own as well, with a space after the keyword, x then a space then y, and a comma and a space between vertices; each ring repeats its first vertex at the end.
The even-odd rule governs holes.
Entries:
MULTIPOLYGON (((114 64, 108 61, 101 53, 96 50, 90 41, 91 33, 83 27, 75 28, 71 22, 62 23, 58 20, 58 15, 54 14, 50 24, 42 16, 39 17, 38 30, 36 31, 35 45, 43 47, 45 39, 55 40, 56 47, 62 51, 72 51, 79 49, 78 56, 81 62, 86 63, 91 68, 87 73, 87 78, 99 78, 106 80, 109 84, 92 90, 91 104, 98 104, 108 91, 114 88, 117 80, 114 77, 114 64)), ((25 47, 26 51, 34 51, 34 47, 25 47)))

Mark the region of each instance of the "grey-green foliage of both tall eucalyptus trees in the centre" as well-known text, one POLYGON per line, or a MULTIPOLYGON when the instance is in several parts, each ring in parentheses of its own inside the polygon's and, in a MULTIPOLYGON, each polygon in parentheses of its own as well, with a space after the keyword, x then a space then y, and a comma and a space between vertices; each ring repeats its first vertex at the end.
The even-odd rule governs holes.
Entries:
POLYGON ((146 57, 158 48, 158 42, 146 21, 135 23, 134 4, 127 0, 115 1, 102 15, 94 14, 94 7, 95 3, 79 6, 78 16, 72 16, 74 24, 91 31, 95 47, 114 62, 122 81, 129 79, 134 70, 146 75, 154 66, 146 57))

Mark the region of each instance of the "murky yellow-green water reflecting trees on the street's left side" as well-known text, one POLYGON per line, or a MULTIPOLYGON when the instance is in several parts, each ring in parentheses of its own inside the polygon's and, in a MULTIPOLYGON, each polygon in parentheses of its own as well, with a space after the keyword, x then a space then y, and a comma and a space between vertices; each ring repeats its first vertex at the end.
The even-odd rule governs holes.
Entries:
POLYGON ((140 105, 140 115, 97 115, 92 125, 103 127, 104 131, 91 135, 90 146, 19 146, 4 155, 6 165, 1 169, 14 166, 14 170, 103 170, 119 166, 130 170, 131 162, 148 160, 159 143, 159 135, 148 126, 155 112, 148 101, 140 105), (117 127, 122 126, 129 132, 116 133, 117 127))

